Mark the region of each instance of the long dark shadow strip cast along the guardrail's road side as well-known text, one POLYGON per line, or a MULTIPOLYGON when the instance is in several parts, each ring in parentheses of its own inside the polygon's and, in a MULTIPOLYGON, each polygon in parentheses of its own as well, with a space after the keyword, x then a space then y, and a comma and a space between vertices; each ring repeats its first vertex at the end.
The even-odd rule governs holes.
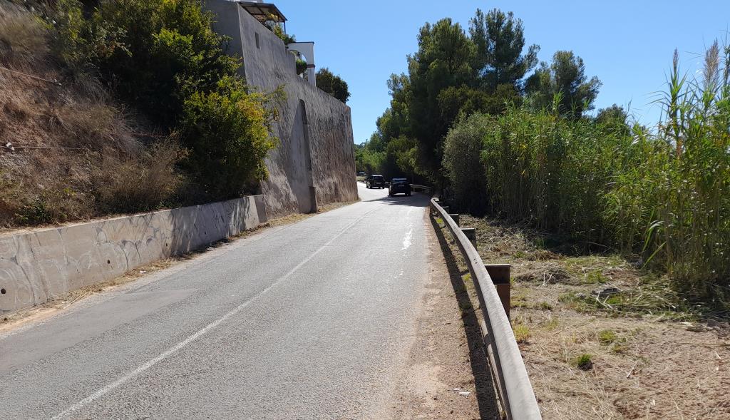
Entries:
MULTIPOLYGON (((472 308, 472 299, 469 297, 469 291, 464 285, 461 278, 456 257, 451 252, 448 240, 444 236, 444 232, 439 228, 439 224, 433 217, 429 217, 431 225, 434 226, 436 237, 439 240, 441 251, 446 260, 446 266, 449 270, 449 278, 451 286, 456 294, 459 308, 463 310, 461 321, 464 323, 464 332, 466 332, 466 341, 469 343, 469 361, 472 364, 472 373, 474 373, 474 382, 477 392, 477 403, 479 404, 479 413, 481 419, 499 419, 499 406, 497 405, 497 396, 494 392, 492 374, 489 370, 487 362, 486 349, 482 340, 482 333, 479 328, 479 321, 475 309, 472 308)), ((475 302, 475 308, 478 308, 478 302, 475 302)))

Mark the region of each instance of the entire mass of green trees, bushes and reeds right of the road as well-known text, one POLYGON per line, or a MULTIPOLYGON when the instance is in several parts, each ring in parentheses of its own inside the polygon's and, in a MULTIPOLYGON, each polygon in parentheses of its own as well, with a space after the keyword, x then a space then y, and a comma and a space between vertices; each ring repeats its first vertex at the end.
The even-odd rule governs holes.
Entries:
POLYGON ((538 51, 499 9, 477 9, 468 31, 426 23, 358 170, 426 177, 453 210, 621 254, 661 275, 677 308, 726 311, 730 47, 708 48, 697 77, 675 55, 656 127, 615 105, 588 115, 598 78, 571 51, 541 64, 538 51))

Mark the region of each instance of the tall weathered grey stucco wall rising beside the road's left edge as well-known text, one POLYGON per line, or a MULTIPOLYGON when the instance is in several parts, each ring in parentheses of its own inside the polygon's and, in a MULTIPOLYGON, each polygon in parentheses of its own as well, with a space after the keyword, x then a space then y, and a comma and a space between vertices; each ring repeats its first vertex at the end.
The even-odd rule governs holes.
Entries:
POLYGON ((261 183, 269 215, 308 213, 314 205, 357 199, 350 107, 297 76, 284 42, 239 4, 206 4, 217 16, 215 31, 231 37, 228 52, 243 57, 247 83, 262 91, 283 86, 286 93, 274 125, 280 145, 269 153, 269 179, 261 183))

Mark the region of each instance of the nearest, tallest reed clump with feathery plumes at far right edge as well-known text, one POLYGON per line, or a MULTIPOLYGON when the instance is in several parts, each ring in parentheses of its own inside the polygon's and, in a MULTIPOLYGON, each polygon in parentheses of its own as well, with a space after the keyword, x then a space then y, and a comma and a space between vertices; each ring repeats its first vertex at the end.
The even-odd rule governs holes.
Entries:
POLYGON ((702 74, 688 77, 675 51, 658 133, 635 139, 638 159, 607 196, 621 243, 640 246, 692 300, 730 297, 729 64, 730 46, 715 42, 702 74))

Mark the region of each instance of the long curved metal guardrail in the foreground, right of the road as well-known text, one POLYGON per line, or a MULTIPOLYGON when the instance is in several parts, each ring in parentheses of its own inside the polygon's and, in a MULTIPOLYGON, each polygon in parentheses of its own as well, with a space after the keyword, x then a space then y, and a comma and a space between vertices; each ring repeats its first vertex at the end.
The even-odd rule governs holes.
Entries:
POLYGON ((431 199, 431 208, 441 216, 453 234, 472 274, 472 280, 475 280, 484 318, 480 322, 482 337, 497 394, 507 419, 542 419, 510 320, 504 312, 499 294, 482 258, 437 199, 431 199))

